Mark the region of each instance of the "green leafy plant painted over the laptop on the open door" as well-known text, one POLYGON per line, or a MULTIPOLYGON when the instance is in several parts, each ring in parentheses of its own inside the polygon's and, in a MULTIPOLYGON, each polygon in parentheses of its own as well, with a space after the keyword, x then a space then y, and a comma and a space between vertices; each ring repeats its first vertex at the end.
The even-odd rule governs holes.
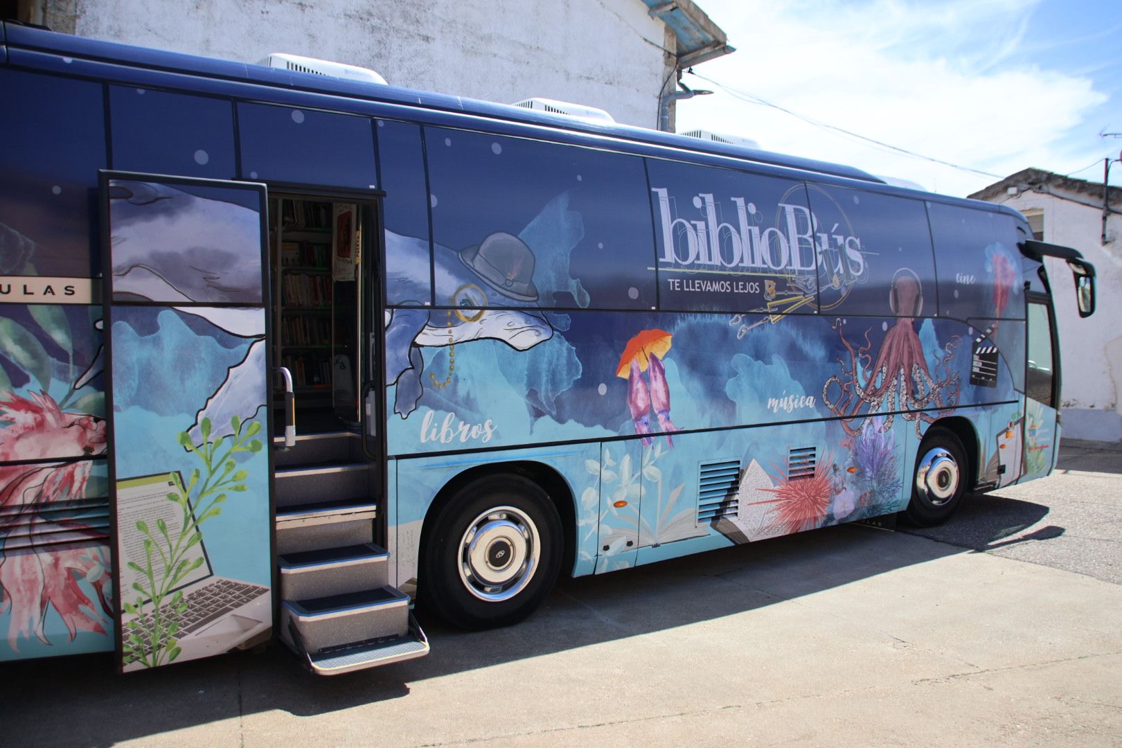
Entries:
MULTIPOLYGON (((238 470, 234 455, 260 452, 264 446, 260 438, 255 438, 261 431, 259 422, 243 422, 233 416, 230 426, 233 433, 229 438, 219 436, 211 441, 210 418, 203 418, 200 424, 203 443, 199 446, 192 444, 186 432, 178 435, 180 445, 202 461, 202 470, 192 470, 186 486, 178 473, 173 473, 176 488, 167 495, 167 500, 176 504, 182 512, 181 529, 171 532, 167 523, 159 518, 155 528, 142 519, 136 524, 144 536, 145 557, 141 563, 127 562, 141 581, 131 585, 137 593, 134 601, 123 602, 125 611, 131 616, 122 636, 125 665, 139 663, 144 667, 157 667, 180 656, 178 619, 187 611, 187 602, 183 591, 176 588, 203 564, 202 556, 191 561, 187 552, 202 542, 200 526, 222 512, 221 505, 229 493, 246 491, 242 481, 249 473, 238 470)), ((122 597, 123 593, 122 590, 122 597)))

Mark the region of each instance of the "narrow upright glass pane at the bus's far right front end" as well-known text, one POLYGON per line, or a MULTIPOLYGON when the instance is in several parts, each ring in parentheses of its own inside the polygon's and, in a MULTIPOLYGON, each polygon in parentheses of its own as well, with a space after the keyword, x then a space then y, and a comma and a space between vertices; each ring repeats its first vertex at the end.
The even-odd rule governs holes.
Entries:
POLYGON ((1024 474, 1019 482, 1048 474, 1059 443, 1059 367, 1051 304, 1029 297, 1029 344, 1024 379, 1024 474))

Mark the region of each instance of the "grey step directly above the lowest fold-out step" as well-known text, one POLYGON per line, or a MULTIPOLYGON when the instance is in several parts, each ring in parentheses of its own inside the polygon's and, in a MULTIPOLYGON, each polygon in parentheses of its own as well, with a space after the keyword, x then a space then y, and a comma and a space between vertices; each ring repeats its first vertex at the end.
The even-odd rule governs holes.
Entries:
POLYGON ((405 636, 410 598, 393 587, 280 603, 280 638, 311 655, 323 649, 405 636))

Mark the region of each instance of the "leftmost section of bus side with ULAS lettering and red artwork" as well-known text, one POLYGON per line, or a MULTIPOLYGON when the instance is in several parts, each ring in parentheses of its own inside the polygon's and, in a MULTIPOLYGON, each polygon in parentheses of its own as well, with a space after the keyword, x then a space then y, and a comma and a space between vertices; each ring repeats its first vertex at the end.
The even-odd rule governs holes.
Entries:
POLYGON ((0 68, 0 661, 109 650, 102 86, 0 68))

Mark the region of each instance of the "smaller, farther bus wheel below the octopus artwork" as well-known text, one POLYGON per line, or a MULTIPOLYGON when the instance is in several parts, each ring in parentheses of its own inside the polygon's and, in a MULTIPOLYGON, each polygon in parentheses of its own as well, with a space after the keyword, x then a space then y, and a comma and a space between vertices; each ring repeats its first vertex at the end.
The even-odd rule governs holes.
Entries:
POLYGON ((904 510, 909 523, 934 527, 950 519, 966 493, 969 462, 954 432, 929 428, 916 454, 912 496, 904 510))

